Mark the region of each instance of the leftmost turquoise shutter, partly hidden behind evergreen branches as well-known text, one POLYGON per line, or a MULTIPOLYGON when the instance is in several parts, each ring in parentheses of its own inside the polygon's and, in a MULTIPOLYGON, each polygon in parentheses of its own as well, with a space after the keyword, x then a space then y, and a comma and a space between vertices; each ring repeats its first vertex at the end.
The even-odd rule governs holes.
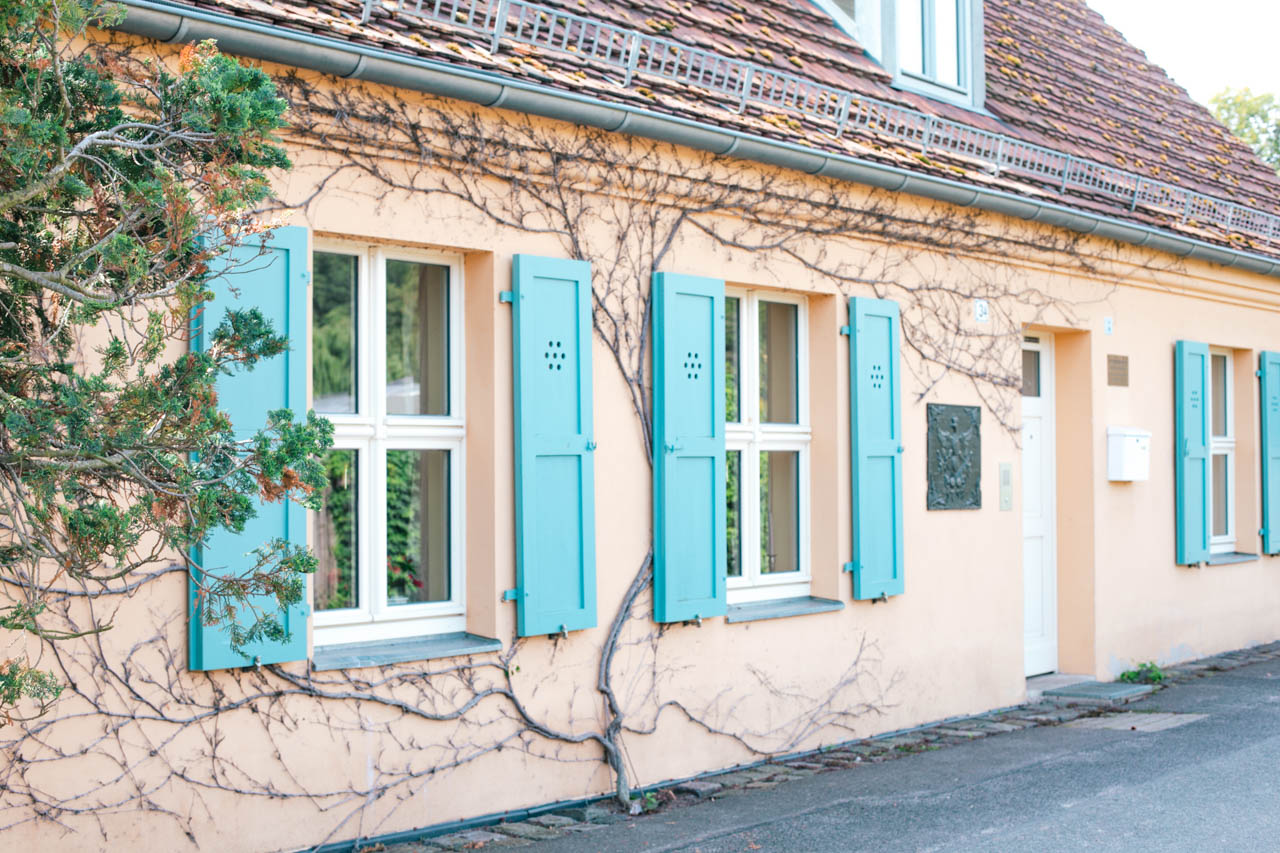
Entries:
MULTIPOLYGON (((261 238, 233 248, 216 259, 210 289, 214 300, 196 319, 192 346, 204 350, 206 334, 221 323, 230 309, 257 307, 276 332, 289 338, 289 351, 260 361, 251 371, 218 379, 218 401, 232 420, 237 438, 250 438, 266 425, 274 409, 302 414, 307 407, 307 231, 276 228, 264 247, 261 238), (264 251, 265 250, 265 251, 264 251), (234 288, 236 293, 232 292, 234 288)), ((255 548, 271 539, 306 544, 306 510, 292 501, 256 505, 257 515, 241 533, 215 530, 204 547, 193 551, 189 598, 189 662, 193 670, 224 670, 255 663, 282 663, 307 657, 308 606, 300 602, 280 613, 288 639, 261 642, 243 653, 233 652, 224 626, 207 626, 200 613, 197 580, 200 567, 210 573, 248 570, 255 548)), ((264 607, 274 608, 273 598, 264 607)))

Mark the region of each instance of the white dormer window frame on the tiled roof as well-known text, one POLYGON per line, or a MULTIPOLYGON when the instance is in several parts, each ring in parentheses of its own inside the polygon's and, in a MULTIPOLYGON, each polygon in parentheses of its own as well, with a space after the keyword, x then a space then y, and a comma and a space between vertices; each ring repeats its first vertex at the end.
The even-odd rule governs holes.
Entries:
MULTIPOLYGON (((867 53, 893 74, 893 86, 974 110, 983 109, 987 91, 983 50, 982 0, 813 0, 836 24, 852 36, 867 53), (957 79, 938 73, 938 15, 956 4, 957 79), (919 4, 919 20, 914 9, 919 4), (852 15, 850 15, 850 12, 852 15), (905 14, 900 14, 905 13, 905 14), (910 27, 911 32, 902 31, 910 27), (919 38, 920 63, 908 67, 911 55, 902 50, 909 38, 919 38)), ((915 63, 911 63, 913 65, 915 63)))

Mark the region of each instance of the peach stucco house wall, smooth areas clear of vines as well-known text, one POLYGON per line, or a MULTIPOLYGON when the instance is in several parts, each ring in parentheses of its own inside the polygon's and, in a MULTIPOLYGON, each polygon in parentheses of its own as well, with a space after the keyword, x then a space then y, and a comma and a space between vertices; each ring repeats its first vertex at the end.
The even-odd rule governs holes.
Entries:
MULTIPOLYGON (((282 177, 279 191, 285 199, 302 199, 311 195, 328 168, 321 152, 297 149, 293 154, 296 167, 282 177)), ((681 168, 681 156, 672 156, 671 168, 681 168)), ((463 257, 467 629, 500 638, 509 647, 515 605, 500 597, 515 585, 512 328, 509 307, 499 304, 498 292, 509 287, 515 254, 564 256, 566 250, 556 237, 500 228, 447 197, 374 193, 366 181, 351 177, 330 183, 289 222, 307 225, 312 237, 431 247, 463 257)), ((902 204, 916 205, 911 200, 902 204)), ((996 218, 986 224, 1002 227, 996 218)), ((842 255, 858 257, 868 248, 856 241, 832 241, 827 251, 838 260, 842 255)), ((929 261, 938 275, 965 274, 963 263, 946 257, 929 261)), ((1190 338, 1236 348, 1239 549, 1257 551, 1251 533, 1258 526, 1260 505, 1257 394, 1251 365, 1260 350, 1280 350, 1280 283, 1137 252, 1121 252, 1106 274, 1050 269, 1034 260, 1000 263, 1023 277, 1011 280, 1033 282, 1074 305, 1070 318, 1043 318, 1029 310, 1019 316, 1021 309, 1011 309, 1014 323, 1052 330, 1057 342, 1061 669, 1107 679, 1140 660, 1172 662, 1280 637, 1275 616, 1280 612, 1280 564, 1260 558, 1204 569, 1174 565, 1171 464, 1174 342, 1190 338), (1110 334, 1103 332, 1105 318, 1114 320, 1110 334), (1128 388, 1107 387, 1108 353, 1130 357, 1128 388), (1152 430, 1149 482, 1107 483, 1108 425, 1152 430)), ((777 730, 790 719, 794 704, 787 697, 823 695, 855 660, 860 660, 858 680, 847 685, 841 707, 867 702, 869 710, 851 721, 827 720, 801 731, 799 747, 817 748, 1020 702, 1025 683, 1016 430, 1002 429, 984 411, 983 507, 925 511, 925 403, 984 405, 984 394, 957 375, 942 377, 925 389, 918 357, 904 352, 906 592, 883 603, 855 602, 850 576, 841 571, 850 560, 851 487, 847 343, 838 330, 847 321, 845 296, 872 291, 842 291, 785 255, 735 254, 690 233, 676 242, 663 269, 808 295, 813 593, 838 599, 845 607, 772 621, 731 625, 714 619, 701 626, 675 625, 658 639, 653 658, 644 643, 623 648, 617 665, 620 681, 653 666, 660 671, 660 698, 678 698, 685 707, 710 715, 726 730, 762 748, 781 743, 777 730), (1001 464, 1012 465, 1015 473, 1009 511, 998 508, 1001 464)), ((961 309, 969 310, 965 304, 961 309)), ((1005 364, 1015 364, 1016 336, 1001 346, 1007 350, 1001 355, 1005 364)), ((596 653, 650 542, 650 467, 640 426, 613 357, 598 337, 593 357, 600 626, 559 642, 524 640, 521 670, 515 676, 535 712, 575 731, 598 725, 596 653)), ((998 391, 995 398, 1012 406, 1016 426, 1014 393, 998 391)), ((123 654, 157 625, 182 651, 183 585, 179 578, 170 580, 124 605, 140 619, 118 620, 106 640, 114 653, 123 654)), ((644 613, 634 622, 632 637, 652 633, 644 613)), ((302 672, 305 667, 292 669, 302 672)), ((189 690, 204 695, 210 684, 230 689, 237 678, 215 675, 206 683, 201 676, 189 690)), ((709 735, 671 706, 658 712, 644 697, 632 698, 636 725, 652 727, 650 734, 626 736, 634 784, 754 758, 732 738, 709 735)), ((323 711, 303 698, 278 702, 287 725, 268 729, 248 716, 228 717, 219 724, 221 749, 243 751, 255 780, 312 793, 236 795, 170 781, 156 798, 179 812, 182 821, 138 811, 104 811, 65 818, 70 834, 35 821, 10 830, 13 849, 123 849, 143 839, 156 849, 296 849, 324 839, 376 835, 603 794, 611 785, 593 744, 544 743, 493 752, 435 776, 424 774, 394 797, 369 802, 362 809, 348 807, 381 768, 425 770, 433 761, 443 762, 443 752, 431 744, 456 740, 458 729, 406 721, 355 701, 330 702, 323 711), (320 797, 316 790, 328 793, 320 797)), ((485 726, 495 733, 506 730, 500 715, 486 713, 481 710, 485 726)), ((77 725, 68 724, 59 736, 74 743, 92 730, 88 722, 77 725)), ((207 734, 193 731, 164 748, 198 754, 206 749, 207 734)), ((78 761, 74 767, 52 765, 60 770, 49 784, 73 790, 76 779, 118 772, 99 767, 91 757, 78 761), (59 772, 65 776, 59 777, 59 772)), ((143 776, 151 772, 145 757, 138 761, 143 776)))

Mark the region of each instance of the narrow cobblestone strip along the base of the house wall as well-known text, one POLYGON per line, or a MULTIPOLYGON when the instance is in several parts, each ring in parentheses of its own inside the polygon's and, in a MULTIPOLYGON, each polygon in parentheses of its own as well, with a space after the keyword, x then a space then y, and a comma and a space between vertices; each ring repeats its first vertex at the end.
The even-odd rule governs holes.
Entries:
MULTIPOLYGON (((904 756, 947 749, 957 744, 984 738, 998 738, 1009 733, 1039 726, 1114 731, 1164 731, 1202 719, 1196 713, 1142 712, 1142 706, 1152 695, 1179 684, 1228 672, 1239 667, 1280 660, 1280 643, 1228 652, 1213 657, 1170 666, 1164 670, 1166 680, 1153 694, 1142 697, 1124 708, 1110 704, 1064 701, 1041 701, 1016 708, 983 713, 960 720, 948 720, 902 734, 884 735, 842 744, 786 760, 769 761, 707 775, 695 780, 660 786, 646 792, 646 799, 655 807, 640 816, 621 813, 607 800, 561 808, 516 822, 480 826, 448 835, 436 835, 419 841, 398 844, 372 844, 357 848, 362 853, 440 853, 443 850, 506 849, 539 845, 552 839, 570 840, 575 835, 591 834, 614 824, 628 824, 643 831, 650 821, 663 821, 672 811, 689 806, 721 800, 748 792, 774 789, 788 781, 847 770, 864 765, 879 765, 904 756)), ((1280 804, 1280 799, 1277 799, 1280 804)), ((582 839, 586 841, 588 839, 582 839)), ((1280 843, 1280 841, 1277 841, 1280 843)), ((589 844, 590 845, 590 844, 589 844)), ((561 845, 552 845, 561 847, 561 845)), ((611 847, 609 849, 620 849, 611 847)), ((753 848, 750 844, 746 849, 753 848)))

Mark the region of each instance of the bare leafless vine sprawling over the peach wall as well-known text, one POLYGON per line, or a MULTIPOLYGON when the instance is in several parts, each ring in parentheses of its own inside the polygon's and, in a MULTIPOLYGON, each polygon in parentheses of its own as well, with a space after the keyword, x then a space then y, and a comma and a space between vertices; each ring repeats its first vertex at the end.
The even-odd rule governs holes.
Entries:
MULTIPOLYGON (((1009 429, 1023 324, 1071 324, 1079 305, 1071 277, 1103 274, 1117 261, 1070 233, 658 142, 332 81, 279 83, 292 104, 291 142, 325 163, 314 188, 282 206, 306 209, 357 184, 387 204, 447 197, 495 231, 553 236, 568 256, 591 261, 595 332, 626 383, 650 457, 649 280, 689 241, 750 259, 765 277, 799 273, 836 282, 845 295, 897 300, 915 356, 904 365, 922 396, 945 377, 964 377, 1009 429), (1010 265, 1007 256, 1028 260, 1010 265), (970 319, 978 298, 991 306, 987 325, 970 319)), ((67 630, 124 608, 156 629, 125 647, 95 635, 45 649, 69 689, 46 717, 0 730, 14 757, 0 771, 0 831, 36 820, 77 830, 96 822, 105 838, 111 815, 142 808, 166 815, 198 845, 197 826, 232 794, 305 803, 323 816, 326 840, 370 836, 403 824, 430 780, 503 751, 585 766, 603 757, 627 806, 637 776, 628 739, 655 733, 667 716, 768 756, 837 731, 852 736, 891 701, 893 679, 878 675, 879 651, 865 639, 818 695, 759 669, 733 688, 690 698, 681 690, 687 674, 663 654, 663 638, 695 629, 652 622, 652 571, 649 555, 591 652, 594 689, 577 678, 567 707, 550 707, 540 688, 558 661, 577 661, 572 640, 512 638, 497 657, 439 666, 317 672, 300 663, 206 675, 186 669, 180 570, 92 592, 69 584, 52 602, 67 630), (525 671, 529 661, 539 671, 525 671), (774 712, 760 713, 762 703, 774 712), (63 734, 86 724, 87 739, 63 734), (332 760, 315 771, 311 756, 325 753, 315 744, 344 756, 369 735, 380 747, 367 765, 332 760), (247 743, 274 744, 274 754, 250 762, 247 743), (110 770, 72 789, 49 783, 49 768, 90 756, 110 770)), ((412 822, 433 821, 413 812, 412 822)))

